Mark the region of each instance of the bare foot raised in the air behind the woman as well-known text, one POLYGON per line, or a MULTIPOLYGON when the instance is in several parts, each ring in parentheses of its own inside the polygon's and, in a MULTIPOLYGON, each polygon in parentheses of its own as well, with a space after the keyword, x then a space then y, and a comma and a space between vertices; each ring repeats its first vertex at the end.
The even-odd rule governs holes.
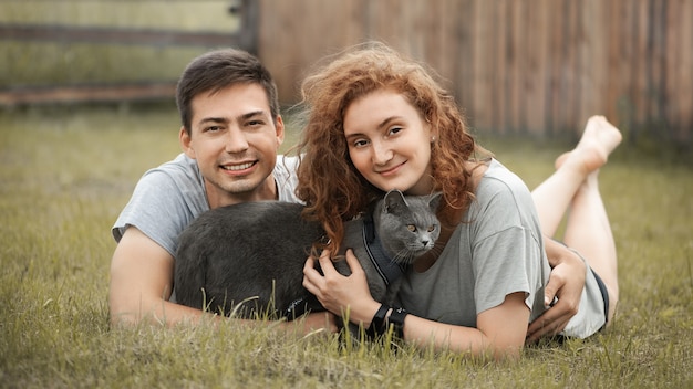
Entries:
POLYGON ((582 138, 572 151, 563 153, 555 162, 556 169, 572 161, 583 174, 602 167, 622 140, 621 133, 603 116, 592 116, 587 120, 582 138))

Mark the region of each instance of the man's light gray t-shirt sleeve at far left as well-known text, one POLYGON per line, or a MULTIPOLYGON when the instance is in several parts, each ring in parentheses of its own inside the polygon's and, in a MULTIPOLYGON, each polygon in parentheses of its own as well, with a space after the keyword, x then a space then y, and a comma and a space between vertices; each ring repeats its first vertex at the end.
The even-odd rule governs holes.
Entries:
POLYGON ((175 255, 178 235, 205 210, 204 198, 204 191, 195 182, 174 178, 162 170, 148 171, 137 182, 113 225, 113 238, 118 242, 128 227, 135 227, 175 255))

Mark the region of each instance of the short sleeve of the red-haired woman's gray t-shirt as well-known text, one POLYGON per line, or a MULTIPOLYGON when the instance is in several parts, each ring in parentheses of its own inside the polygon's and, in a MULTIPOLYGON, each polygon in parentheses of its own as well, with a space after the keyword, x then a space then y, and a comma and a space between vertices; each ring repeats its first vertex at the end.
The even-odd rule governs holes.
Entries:
MULTIPOLYGON (((497 181, 496 181, 497 183, 497 181)), ((542 242, 529 191, 494 185, 495 192, 474 220, 473 270, 477 314, 525 294, 531 309, 541 288, 542 242)))

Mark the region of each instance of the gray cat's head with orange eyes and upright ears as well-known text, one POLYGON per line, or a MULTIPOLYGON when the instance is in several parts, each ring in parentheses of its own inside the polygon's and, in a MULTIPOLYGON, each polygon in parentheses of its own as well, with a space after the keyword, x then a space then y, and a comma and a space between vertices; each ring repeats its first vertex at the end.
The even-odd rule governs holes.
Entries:
POLYGON ((395 262, 411 264, 435 245, 441 223, 435 215, 442 193, 404 196, 389 191, 373 214, 381 243, 395 262))

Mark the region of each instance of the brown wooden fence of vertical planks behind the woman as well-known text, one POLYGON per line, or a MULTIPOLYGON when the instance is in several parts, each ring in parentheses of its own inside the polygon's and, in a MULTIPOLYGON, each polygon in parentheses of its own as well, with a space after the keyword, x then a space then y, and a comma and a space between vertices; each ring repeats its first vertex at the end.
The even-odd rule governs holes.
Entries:
POLYGON ((693 0, 259 0, 281 98, 317 60, 380 40, 434 67, 478 130, 552 136, 603 114, 693 133, 693 0))

